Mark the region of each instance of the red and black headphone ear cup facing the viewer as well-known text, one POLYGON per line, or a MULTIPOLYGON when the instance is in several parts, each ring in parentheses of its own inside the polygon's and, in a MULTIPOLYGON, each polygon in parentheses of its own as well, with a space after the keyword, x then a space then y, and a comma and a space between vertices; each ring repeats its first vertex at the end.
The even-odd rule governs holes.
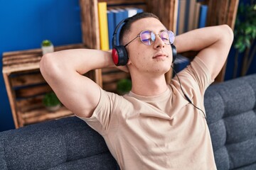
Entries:
POLYGON ((117 66, 126 65, 129 58, 127 50, 123 45, 114 46, 112 50, 112 60, 117 66))

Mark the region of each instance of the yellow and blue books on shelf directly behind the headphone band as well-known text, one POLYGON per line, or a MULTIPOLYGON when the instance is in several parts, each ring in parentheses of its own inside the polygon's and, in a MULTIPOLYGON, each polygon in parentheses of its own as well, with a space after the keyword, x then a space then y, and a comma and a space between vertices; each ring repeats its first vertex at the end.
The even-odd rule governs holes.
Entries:
MULTIPOLYGON (((123 19, 141 12, 143 12, 142 8, 108 8, 106 2, 99 2, 100 49, 112 49, 112 37, 117 24, 123 19)), ((117 40, 119 40, 119 31, 117 31, 117 40)), ((117 43, 117 45, 119 44, 117 43)))

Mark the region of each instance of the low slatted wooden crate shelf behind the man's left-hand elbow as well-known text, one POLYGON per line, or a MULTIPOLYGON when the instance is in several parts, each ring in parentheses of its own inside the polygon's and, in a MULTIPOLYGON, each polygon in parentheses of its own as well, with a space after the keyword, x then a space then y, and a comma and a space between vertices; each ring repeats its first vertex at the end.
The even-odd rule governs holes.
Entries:
MULTIPOLYGON (((55 47, 55 51, 84 47, 82 44, 65 45, 55 47)), ((52 89, 39 70, 41 56, 41 49, 4 52, 3 54, 4 83, 16 128, 73 115, 65 106, 54 113, 50 113, 43 106, 44 94, 52 89)), ((99 79, 95 78, 96 75, 101 76, 101 73, 94 70, 87 74, 97 84, 101 84, 98 82, 99 79)))

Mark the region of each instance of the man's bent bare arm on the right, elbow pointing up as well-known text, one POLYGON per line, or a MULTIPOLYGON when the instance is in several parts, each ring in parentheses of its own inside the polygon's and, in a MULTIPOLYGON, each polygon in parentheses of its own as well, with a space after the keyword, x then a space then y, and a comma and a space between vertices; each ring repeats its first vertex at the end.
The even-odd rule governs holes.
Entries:
POLYGON ((215 79, 227 60, 233 42, 233 30, 227 26, 211 26, 191 30, 176 37, 177 52, 199 51, 197 57, 210 70, 215 79))

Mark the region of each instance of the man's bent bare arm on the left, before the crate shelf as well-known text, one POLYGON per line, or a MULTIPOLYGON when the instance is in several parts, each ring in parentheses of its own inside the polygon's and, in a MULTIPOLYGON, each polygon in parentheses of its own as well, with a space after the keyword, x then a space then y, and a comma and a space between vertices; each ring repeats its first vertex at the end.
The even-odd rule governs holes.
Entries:
POLYGON ((40 70, 60 101, 75 115, 90 117, 100 100, 100 88, 82 76, 92 69, 114 67, 110 52, 64 50, 42 57, 40 70))

